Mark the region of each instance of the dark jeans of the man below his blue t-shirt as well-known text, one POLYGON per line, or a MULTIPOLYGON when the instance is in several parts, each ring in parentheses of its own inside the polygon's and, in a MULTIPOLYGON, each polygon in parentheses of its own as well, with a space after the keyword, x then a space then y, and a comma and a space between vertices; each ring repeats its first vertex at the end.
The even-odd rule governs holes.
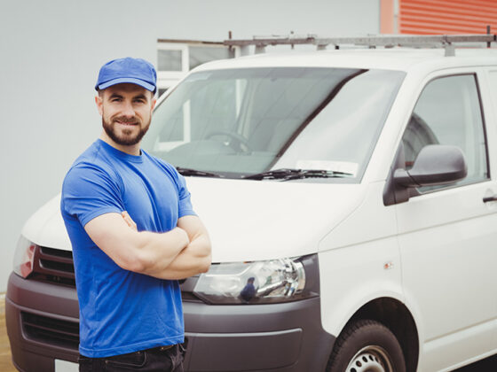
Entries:
POLYGON ((183 372, 183 345, 169 349, 154 347, 135 353, 114 355, 105 358, 79 357, 80 372, 163 371, 183 372))

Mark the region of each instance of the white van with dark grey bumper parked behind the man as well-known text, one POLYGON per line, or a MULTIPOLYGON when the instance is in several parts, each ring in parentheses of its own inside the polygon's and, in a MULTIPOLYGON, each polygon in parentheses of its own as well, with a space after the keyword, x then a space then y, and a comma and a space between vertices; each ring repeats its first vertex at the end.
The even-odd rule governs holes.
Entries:
MULTIPOLYGON (((447 50, 216 61, 162 97, 143 148, 185 174, 213 244, 181 283, 185 370, 448 371, 497 353, 497 51, 447 50)), ((17 249, 13 362, 77 368, 59 197, 17 249)))

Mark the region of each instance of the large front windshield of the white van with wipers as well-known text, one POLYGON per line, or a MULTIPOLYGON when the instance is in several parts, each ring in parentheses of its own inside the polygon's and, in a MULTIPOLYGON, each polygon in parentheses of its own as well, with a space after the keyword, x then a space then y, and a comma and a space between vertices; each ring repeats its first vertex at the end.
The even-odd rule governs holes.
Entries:
POLYGON ((359 182, 403 77, 320 67, 191 74, 155 109, 142 146, 188 175, 359 182))

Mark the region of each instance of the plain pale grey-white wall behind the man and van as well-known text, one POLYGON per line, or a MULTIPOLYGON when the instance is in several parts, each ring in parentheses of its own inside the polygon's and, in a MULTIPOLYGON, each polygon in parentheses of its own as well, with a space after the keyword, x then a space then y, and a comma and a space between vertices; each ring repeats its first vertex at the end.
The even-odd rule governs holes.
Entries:
POLYGON ((100 133, 99 67, 156 40, 377 34, 379 0, 0 0, 0 292, 20 229, 100 133))

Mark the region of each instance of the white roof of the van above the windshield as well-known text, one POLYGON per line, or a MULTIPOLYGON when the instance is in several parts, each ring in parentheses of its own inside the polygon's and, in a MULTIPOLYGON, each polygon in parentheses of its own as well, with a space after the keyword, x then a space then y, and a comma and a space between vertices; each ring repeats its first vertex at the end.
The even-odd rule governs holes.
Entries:
POLYGON ((497 66, 497 49, 456 49, 454 57, 446 57, 444 49, 342 49, 307 52, 291 50, 217 60, 201 65, 195 71, 270 66, 378 68, 406 72, 423 66, 432 70, 462 66, 497 66))

